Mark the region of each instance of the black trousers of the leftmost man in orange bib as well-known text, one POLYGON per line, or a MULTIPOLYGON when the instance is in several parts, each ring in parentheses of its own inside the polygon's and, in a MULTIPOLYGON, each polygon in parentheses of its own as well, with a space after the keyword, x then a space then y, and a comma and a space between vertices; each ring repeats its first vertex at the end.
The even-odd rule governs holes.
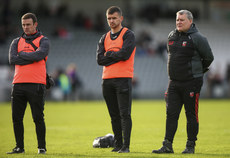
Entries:
POLYGON ((23 117, 28 102, 36 126, 38 148, 46 149, 46 127, 43 113, 45 93, 46 89, 43 84, 18 83, 13 85, 11 94, 12 119, 17 147, 24 148, 23 117))

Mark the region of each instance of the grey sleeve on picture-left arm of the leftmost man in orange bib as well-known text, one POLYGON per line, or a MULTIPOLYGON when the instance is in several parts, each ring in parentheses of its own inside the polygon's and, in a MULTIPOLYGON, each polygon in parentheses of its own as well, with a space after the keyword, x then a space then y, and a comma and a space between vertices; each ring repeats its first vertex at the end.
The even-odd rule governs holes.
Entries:
POLYGON ((12 41, 9 49, 9 63, 11 65, 27 65, 32 64, 33 61, 25 60, 18 55, 18 41, 19 38, 16 38, 12 41))

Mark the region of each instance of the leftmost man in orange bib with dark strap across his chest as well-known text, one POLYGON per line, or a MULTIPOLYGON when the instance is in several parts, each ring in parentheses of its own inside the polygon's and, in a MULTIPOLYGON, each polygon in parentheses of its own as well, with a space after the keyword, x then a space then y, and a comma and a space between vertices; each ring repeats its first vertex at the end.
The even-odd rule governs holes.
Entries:
POLYGON ((37 18, 26 13, 21 18, 24 33, 10 45, 9 63, 15 65, 11 93, 12 119, 16 147, 8 154, 24 153, 23 117, 27 102, 30 104, 36 126, 38 153, 46 153, 44 104, 46 94, 46 60, 49 40, 37 29, 37 18))

